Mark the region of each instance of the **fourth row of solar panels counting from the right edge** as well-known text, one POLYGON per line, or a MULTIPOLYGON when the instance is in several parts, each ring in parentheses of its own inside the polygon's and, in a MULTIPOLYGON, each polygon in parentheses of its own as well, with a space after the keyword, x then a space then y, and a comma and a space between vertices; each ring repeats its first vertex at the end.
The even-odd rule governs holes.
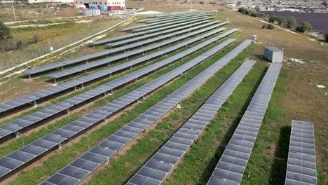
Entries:
MULTIPOLYGON (((217 53, 217 50, 220 50, 223 47, 224 44, 221 43, 193 60, 199 62, 203 61, 207 57, 217 53)), ((224 58, 228 59, 227 57, 224 58)), ((232 58, 229 59, 231 60, 232 58)), ((142 115, 138 116, 123 128, 116 131, 113 135, 107 137, 107 139, 104 139, 100 142, 100 144, 93 147, 93 149, 90 149, 90 151, 84 153, 52 177, 44 181, 43 185, 77 184, 79 181, 88 176, 88 174, 93 172, 93 170, 113 156, 114 153, 122 149, 123 146, 128 144, 132 139, 137 137, 137 135, 146 130, 149 125, 156 122, 164 114, 168 113, 172 107, 175 107, 179 102, 184 100, 184 98, 193 93, 193 91, 205 83, 208 78, 224 67, 224 65, 228 63, 229 59, 219 60, 212 64, 210 67, 205 69, 205 71, 198 74, 198 76, 191 79, 188 83, 182 85, 181 88, 166 97, 164 100, 145 111, 142 115)))

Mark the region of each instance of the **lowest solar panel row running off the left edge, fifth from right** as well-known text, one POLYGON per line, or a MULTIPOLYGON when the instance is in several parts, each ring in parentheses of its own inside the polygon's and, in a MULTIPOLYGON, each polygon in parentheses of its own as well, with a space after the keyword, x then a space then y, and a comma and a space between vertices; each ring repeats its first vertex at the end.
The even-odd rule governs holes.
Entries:
MULTIPOLYGON (((50 151, 50 149, 53 149, 55 146, 61 144, 67 139, 70 139, 71 137, 74 137, 79 133, 85 131, 87 128, 90 128, 95 123, 99 123, 100 121, 106 120, 108 116, 111 116, 112 114, 121 111, 128 105, 153 92, 153 90, 160 88, 161 86, 165 85, 165 83, 172 81, 172 79, 176 78, 177 76, 180 76, 184 72, 200 64, 200 62, 207 60, 207 58, 210 57, 210 53, 217 53, 219 50, 226 47, 232 41, 233 40, 224 41, 218 46, 215 46, 214 48, 207 51, 207 55, 200 55, 199 57, 196 57, 195 59, 173 69, 167 74, 164 74, 163 76, 160 76, 155 80, 146 83, 146 85, 143 85, 142 87, 133 90, 127 95, 124 95, 123 97, 114 100, 113 102, 105 105, 104 107, 101 107, 100 109, 97 109, 91 112, 90 114, 83 116, 82 118, 78 118, 76 121, 69 123, 68 125, 64 125, 62 128, 59 128, 54 132, 51 132, 50 134, 44 137, 41 137, 41 139, 37 139, 31 144, 28 144, 27 146, 24 146, 21 149, 10 153, 3 158, 0 158, 0 177, 4 177, 4 175, 8 174, 9 172, 12 172, 13 170, 16 170, 18 167, 22 167, 22 165, 25 165, 25 163, 28 163, 34 158, 38 158, 46 151, 50 151)), ((203 44, 200 44, 200 46, 203 46, 203 44)), ((130 131, 133 132, 132 130, 130 131)), ((89 159, 89 161, 78 161, 76 162, 76 167, 86 167, 87 169, 90 169, 90 167, 96 165, 96 163, 93 163, 93 161, 98 161, 101 159, 98 157, 94 158, 92 156, 90 156, 90 158, 86 156, 86 158, 89 159)))

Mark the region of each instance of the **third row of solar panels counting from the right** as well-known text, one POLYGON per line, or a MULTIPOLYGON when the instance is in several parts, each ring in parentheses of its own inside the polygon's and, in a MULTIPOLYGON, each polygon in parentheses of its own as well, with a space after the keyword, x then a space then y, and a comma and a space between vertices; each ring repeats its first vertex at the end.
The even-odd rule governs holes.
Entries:
MULTIPOLYGON (((219 60, 216 64, 218 68, 223 67, 227 61, 219 60)), ((228 97, 233 93, 233 90, 237 87, 237 85, 242 81, 242 79, 246 76, 248 71, 255 64, 255 61, 246 61, 240 66, 225 82, 221 87, 216 90, 213 95, 203 104, 198 111, 196 111, 189 121, 186 121, 182 128, 180 128, 175 135, 173 135, 164 146, 162 146, 149 160, 147 163, 151 162, 159 162, 171 165, 170 170, 174 167, 175 164, 179 161, 180 158, 184 155, 189 146, 195 141, 195 139, 200 135, 201 130, 205 128, 205 126, 210 123, 212 117, 217 113, 217 111, 221 108, 221 105, 228 99, 228 97), (225 88, 225 85, 233 85, 233 88, 225 88), (223 102, 217 104, 217 100, 223 100, 223 102), (201 128, 193 128, 191 125, 195 124, 193 120, 197 120, 200 118, 200 114, 203 114, 203 109, 205 107, 209 107, 212 104, 211 109, 214 110, 212 114, 203 115, 203 118, 206 118, 205 124, 202 124, 201 128)), ((213 66, 212 66, 213 67, 213 66)), ((168 172, 170 172, 168 170, 168 172)), ((142 181, 139 182, 137 179, 139 177, 144 178, 145 180, 156 179, 159 181, 158 184, 165 179, 168 172, 160 176, 153 176, 152 172, 156 172, 156 169, 151 169, 144 165, 129 181, 127 184, 140 184, 142 185, 142 181), (146 173, 144 171, 147 171, 146 173)))

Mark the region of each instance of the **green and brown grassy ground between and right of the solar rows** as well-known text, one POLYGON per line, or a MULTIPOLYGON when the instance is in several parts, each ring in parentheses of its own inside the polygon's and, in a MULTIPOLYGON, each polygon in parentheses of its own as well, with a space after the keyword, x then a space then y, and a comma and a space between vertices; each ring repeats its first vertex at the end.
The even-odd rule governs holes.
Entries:
MULTIPOLYGON (((128 7, 144 6, 146 10, 152 11, 168 11, 168 6, 163 4, 153 5, 146 2, 127 1, 128 7)), ((200 6, 203 9, 223 10, 219 6, 210 5, 194 5, 193 8, 200 6)), ((186 11, 190 9, 187 5, 177 5, 170 8, 170 11, 186 11)), ((328 46, 321 45, 317 41, 311 41, 301 34, 292 34, 282 29, 261 29, 262 22, 256 18, 242 15, 234 11, 217 12, 217 19, 225 20, 229 18, 231 24, 228 28, 238 27, 240 32, 233 35, 238 42, 243 39, 251 39, 253 34, 258 36, 258 43, 247 48, 233 62, 228 64, 217 75, 207 81, 205 85, 196 91, 191 97, 182 102, 182 109, 175 109, 172 113, 160 121, 156 128, 144 132, 142 138, 135 142, 131 149, 115 156, 110 160, 109 164, 104 165, 104 170, 92 174, 93 179, 85 181, 86 184, 123 184, 141 167, 150 156, 162 146, 171 135, 210 97, 221 83, 230 76, 235 69, 245 60, 257 60, 257 64, 252 71, 245 77, 235 90, 233 95, 229 97, 224 106, 219 110, 217 116, 211 121, 205 129, 202 137, 198 138, 191 146, 191 150, 186 154, 181 163, 164 184, 206 184, 210 178, 215 165, 219 161, 226 144, 228 143, 233 131, 237 127, 242 114, 245 112, 252 96, 254 95, 257 85, 261 82, 268 67, 261 55, 263 47, 273 44, 285 50, 285 61, 280 72, 278 83, 275 85, 271 102, 266 111, 266 116, 259 130, 257 142, 254 145, 250 161, 247 164, 242 184, 283 184, 285 181, 285 171, 287 165, 287 151, 289 146, 290 125, 292 119, 303 121, 312 121, 315 123, 315 144, 317 157, 317 177, 318 184, 328 184, 328 101, 327 88, 320 89, 315 85, 325 85, 328 87, 328 46), (294 60, 296 59, 296 60, 294 60), (295 62, 301 61, 301 62, 295 62)), ((111 34, 119 34, 112 32, 111 34)), ((234 43, 233 46, 236 46, 234 43)), ((85 134, 74 142, 64 147, 60 151, 53 152, 52 155, 46 156, 43 160, 37 161, 35 166, 28 167, 21 174, 11 179, 10 184, 37 184, 46 179, 50 174, 67 165, 71 160, 78 157, 81 153, 90 149, 102 139, 108 137, 113 132, 129 123, 133 118, 142 114, 146 109, 156 102, 179 88, 182 84, 189 81, 217 61, 224 53, 231 50, 233 46, 229 46, 224 52, 219 53, 211 60, 200 64, 199 67, 189 71, 182 78, 177 79, 174 83, 165 86, 157 93, 137 104, 134 109, 125 111, 121 116, 114 119, 110 124, 102 125, 101 129, 85 134)), ((101 47, 96 50, 102 50, 101 47)), ((84 52, 94 52, 93 48, 83 47, 75 53, 71 53, 63 58, 76 57, 84 52)), ((61 118, 55 123, 27 135, 21 139, 15 140, 8 146, 1 146, 1 156, 6 155, 20 146, 23 146, 42 135, 45 135, 55 128, 59 128, 72 120, 83 116, 87 112, 100 107, 102 104, 111 102, 112 100, 130 92, 140 85, 151 81, 165 71, 169 71, 180 64, 199 55, 200 52, 188 57, 183 62, 172 65, 168 69, 158 72, 152 76, 144 78, 144 80, 134 83, 126 88, 118 90, 113 96, 103 100, 96 101, 92 106, 86 107, 82 111, 71 114, 66 118, 61 118)), ((53 60, 56 62, 63 58, 53 60)), ((17 89, 15 96, 23 95, 37 89, 43 89, 40 84, 48 85, 41 78, 34 81, 27 81, 18 76, 4 81, 0 84, 1 93, 10 94, 10 90, 17 89), (35 89, 30 89, 23 84, 34 84, 35 89), (6 88, 9 88, 6 89, 6 88)), ((8 100, 4 97, 3 101, 8 100)), ((10 98, 9 98, 10 100, 10 98)))

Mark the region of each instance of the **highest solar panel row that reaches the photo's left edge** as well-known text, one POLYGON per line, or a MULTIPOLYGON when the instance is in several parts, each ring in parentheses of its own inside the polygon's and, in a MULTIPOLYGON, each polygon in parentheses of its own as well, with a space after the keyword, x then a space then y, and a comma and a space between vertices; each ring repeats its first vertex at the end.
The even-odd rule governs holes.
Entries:
MULTIPOLYGON (((221 29, 221 30, 223 30, 223 29, 221 29)), ((232 34, 233 32, 236 32, 237 30, 238 30, 238 29, 233 29, 233 30, 231 30, 231 31, 229 32, 229 34, 232 34)), ((201 30, 200 30, 200 31, 201 31, 201 30)), ((196 41, 200 41, 200 40, 202 40, 202 39, 205 39, 205 38, 207 38, 208 36, 212 36, 213 34, 217 34, 218 32, 221 32, 221 31, 220 31, 220 30, 215 30, 215 31, 213 31, 213 32, 210 32, 210 33, 204 34, 203 36, 198 36, 198 37, 196 37, 196 38, 189 39, 189 41, 184 41, 184 42, 179 43, 179 44, 177 44, 177 45, 175 45, 175 46, 171 46, 171 47, 166 48, 166 49, 164 49, 164 50, 160 50, 160 51, 158 51, 158 52, 156 52, 156 53, 152 53, 151 55, 146 55, 146 56, 141 57, 141 58, 138 58, 138 59, 136 59, 136 60, 132 60, 132 61, 130 61, 130 63, 126 63, 126 64, 128 64, 128 67, 131 67, 132 65, 137 64, 137 63, 138 63, 137 61, 139 61, 139 62, 148 61, 148 60, 150 60, 150 58, 155 58, 155 57, 158 57, 158 56, 160 56, 160 55, 165 55, 166 53, 170 53, 170 52, 172 52, 173 50, 177 50, 177 49, 182 48, 182 47, 184 47, 184 46, 188 46, 188 45, 191 44, 191 43, 195 43, 196 41), (131 64, 131 65, 129 65, 129 64, 131 64)), ((196 35, 196 34, 200 34, 201 32, 192 32, 192 33, 194 33, 194 35, 196 35)), ((227 36, 227 35, 224 34, 224 36, 227 36)), ((177 38, 173 39, 172 41, 165 41, 165 42, 163 42, 163 43, 158 43, 158 44, 163 44, 163 46, 165 46, 165 45, 167 45, 167 44, 170 44, 171 42, 175 42, 175 41, 177 41, 177 39, 184 39, 184 38, 186 38, 186 37, 187 37, 187 36, 181 36, 181 37, 177 37, 177 38)), ((222 38, 223 38, 223 37, 222 37, 222 38)), ((156 45, 156 46, 157 46, 157 45, 156 45)), ((154 45, 154 46, 151 46, 151 47, 156 47, 156 46, 154 45)), ((133 53, 135 53, 135 51, 133 51, 133 53)), ((118 56, 119 56, 119 55, 118 55, 118 56)), ((121 57, 123 57, 123 56, 121 56, 121 57)), ((119 56, 119 58, 121 58, 121 57, 119 56)), ((117 59, 117 58, 116 58, 116 59, 117 59)), ((110 60, 110 59, 109 59, 109 60, 110 60)), ((114 60, 115 60, 115 59, 114 59, 114 60)), ((108 61, 108 62, 110 62, 110 61, 108 61)), ((125 66, 125 64, 123 64, 123 66, 125 66)), ((109 68, 109 69, 104 69, 104 70, 102 70, 102 71, 98 71, 98 72, 95 73, 95 74, 90 74, 90 75, 87 75, 87 76, 83 76, 83 77, 81 77, 81 78, 77 78, 77 79, 72 80, 72 81, 69 81, 69 82, 67 82, 67 83, 62 83, 62 84, 57 85, 57 86, 55 86, 55 87, 47 88, 46 90, 41 90, 41 91, 39 91, 39 92, 47 91, 47 92, 52 92, 52 93, 53 93, 52 95, 54 95, 55 93, 59 93, 59 92, 62 92, 62 91, 64 91, 64 90, 68 90, 69 88, 76 88, 77 85, 81 85, 81 84, 83 85, 83 83, 88 83, 88 82, 93 81, 93 80, 96 80, 96 79, 98 79, 98 78, 102 78, 102 77, 104 77, 104 76, 111 75, 112 73, 121 70, 120 67, 122 67, 122 65, 118 65, 118 66, 116 66, 116 67, 112 67, 112 68, 109 68)), ((123 68, 123 69, 124 69, 124 68, 123 68)), ((40 98, 40 97, 34 97, 34 93, 33 93, 33 94, 31 94, 31 95, 26 95, 26 96, 24 96, 24 97, 20 97, 20 98, 18 98, 18 99, 11 100, 11 101, 9 101, 9 102, 5 102, 5 103, 3 103, 3 104, 0 104, 0 107, 3 107, 3 109, 0 108, 0 114, 1 114, 2 112, 9 111, 9 110, 11 110, 11 109, 15 109, 15 108, 20 107, 20 106, 9 106, 8 104, 10 104, 11 102, 20 102, 20 100, 22 100, 22 99, 29 100, 29 102, 34 102, 34 104, 36 104, 35 101, 36 101, 36 100, 39 100, 39 99, 41 99, 41 98, 40 98)), ((27 104, 27 103, 29 103, 29 102, 25 101, 24 103, 22 103, 22 105, 23 105, 23 104, 27 104)))

